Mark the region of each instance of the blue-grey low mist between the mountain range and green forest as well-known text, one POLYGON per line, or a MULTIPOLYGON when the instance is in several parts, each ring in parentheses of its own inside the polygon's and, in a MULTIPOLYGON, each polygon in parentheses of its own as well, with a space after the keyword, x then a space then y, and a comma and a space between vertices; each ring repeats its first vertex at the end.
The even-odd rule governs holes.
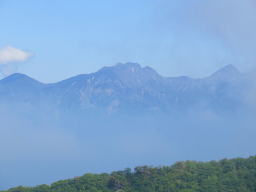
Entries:
MULTIPOLYGON (((202 103, 201 103, 202 104, 202 103)), ((1 104, 0 189, 51 184, 140 165, 255 155, 253 110, 193 108, 107 115, 1 104)))

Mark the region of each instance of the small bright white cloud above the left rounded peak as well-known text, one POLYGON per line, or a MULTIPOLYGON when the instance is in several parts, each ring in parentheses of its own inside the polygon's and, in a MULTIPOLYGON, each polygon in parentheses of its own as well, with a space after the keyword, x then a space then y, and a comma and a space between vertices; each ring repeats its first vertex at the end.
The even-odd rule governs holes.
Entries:
POLYGON ((4 49, 0 49, 0 65, 8 65, 13 62, 26 62, 33 56, 33 52, 26 52, 6 46, 4 49))

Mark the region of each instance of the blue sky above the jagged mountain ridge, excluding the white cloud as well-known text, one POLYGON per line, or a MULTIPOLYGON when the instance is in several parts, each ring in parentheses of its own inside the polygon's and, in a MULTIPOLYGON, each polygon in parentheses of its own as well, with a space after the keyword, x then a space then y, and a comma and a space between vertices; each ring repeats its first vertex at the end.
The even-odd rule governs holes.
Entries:
POLYGON ((203 78, 229 63, 248 72, 255 23, 254 0, 0 0, 0 49, 30 54, 0 64, 0 78, 51 83, 127 61, 165 77, 203 78))

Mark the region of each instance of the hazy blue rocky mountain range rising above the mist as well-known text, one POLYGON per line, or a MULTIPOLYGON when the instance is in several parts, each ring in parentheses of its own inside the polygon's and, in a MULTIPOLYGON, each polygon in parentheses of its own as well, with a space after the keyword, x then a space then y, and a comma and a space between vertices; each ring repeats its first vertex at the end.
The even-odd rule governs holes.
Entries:
POLYGON ((204 79, 165 78, 150 67, 127 62, 51 84, 12 74, 0 80, 0 98, 108 113, 134 108, 176 112, 191 106, 218 110, 242 105, 242 94, 238 94, 250 81, 245 77, 246 74, 228 65, 204 79))

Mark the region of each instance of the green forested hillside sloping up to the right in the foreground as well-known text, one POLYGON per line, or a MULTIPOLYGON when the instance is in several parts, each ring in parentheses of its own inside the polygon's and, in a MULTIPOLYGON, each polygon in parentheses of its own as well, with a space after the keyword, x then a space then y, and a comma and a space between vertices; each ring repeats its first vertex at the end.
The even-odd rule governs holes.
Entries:
POLYGON ((111 174, 84 174, 50 186, 18 186, 7 191, 256 191, 256 155, 219 162, 180 161, 172 166, 138 166, 134 172, 126 168, 111 174))

